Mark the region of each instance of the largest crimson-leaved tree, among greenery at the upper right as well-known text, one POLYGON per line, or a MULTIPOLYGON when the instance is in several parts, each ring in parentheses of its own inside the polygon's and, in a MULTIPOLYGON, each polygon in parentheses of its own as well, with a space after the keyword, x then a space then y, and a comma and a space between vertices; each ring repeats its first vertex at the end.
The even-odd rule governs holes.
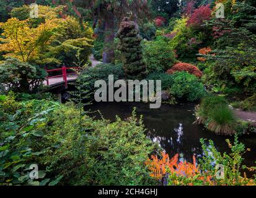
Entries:
POLYGON ((210 6, 200 6, 198 9, 193 11, 190 19, 188 19, 187 24, 192 25, 193 27, 200 27, 203 25, 205 20, 209 20, 211 17, 211 9, 210 6))

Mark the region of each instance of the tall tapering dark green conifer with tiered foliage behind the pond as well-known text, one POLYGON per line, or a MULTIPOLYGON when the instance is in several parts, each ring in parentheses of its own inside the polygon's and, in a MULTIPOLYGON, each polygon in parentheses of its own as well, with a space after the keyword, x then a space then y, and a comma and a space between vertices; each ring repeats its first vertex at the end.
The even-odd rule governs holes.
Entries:
POLYGON ((147 74, 146 65, 143 62, 141 38, 138 37, 138 33, 135 22, 125 17, 117 33, 120 39, 117 48, 123 54, 123 69, 129 79, 143 79, 147 74))

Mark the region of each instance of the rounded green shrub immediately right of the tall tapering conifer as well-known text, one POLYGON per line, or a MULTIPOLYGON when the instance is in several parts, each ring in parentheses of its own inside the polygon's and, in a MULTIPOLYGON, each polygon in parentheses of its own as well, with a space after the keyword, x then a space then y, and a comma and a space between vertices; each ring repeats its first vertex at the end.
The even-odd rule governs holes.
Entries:
POLYGON ((162 39, 146 42, 143 56, 149 72, 165 72, 176 61, 173 49, 162 39))

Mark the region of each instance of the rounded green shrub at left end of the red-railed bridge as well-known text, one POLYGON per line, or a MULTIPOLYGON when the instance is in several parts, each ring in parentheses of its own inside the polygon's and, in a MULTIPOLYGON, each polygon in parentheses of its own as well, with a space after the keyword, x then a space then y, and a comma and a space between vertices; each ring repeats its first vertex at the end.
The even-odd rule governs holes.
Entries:
POLYGON ((14 92, 35 92, 42 85, 47 73, 19 59, 7 58, 0 64, 0 84, 14 92))

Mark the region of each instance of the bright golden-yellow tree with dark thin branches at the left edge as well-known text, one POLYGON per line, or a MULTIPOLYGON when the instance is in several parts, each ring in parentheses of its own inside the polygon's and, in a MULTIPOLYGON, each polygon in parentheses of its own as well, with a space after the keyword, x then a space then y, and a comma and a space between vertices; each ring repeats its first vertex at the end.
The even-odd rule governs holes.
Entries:
POLYGON ((11 18, 0 27, 3 30, 0 51, 4 52, 4 57, 30 62, 39 58, 40 50, 50 43, 58 24, 55 20, 46 20, 38 27, 30 28, 27 20, 11 18))

